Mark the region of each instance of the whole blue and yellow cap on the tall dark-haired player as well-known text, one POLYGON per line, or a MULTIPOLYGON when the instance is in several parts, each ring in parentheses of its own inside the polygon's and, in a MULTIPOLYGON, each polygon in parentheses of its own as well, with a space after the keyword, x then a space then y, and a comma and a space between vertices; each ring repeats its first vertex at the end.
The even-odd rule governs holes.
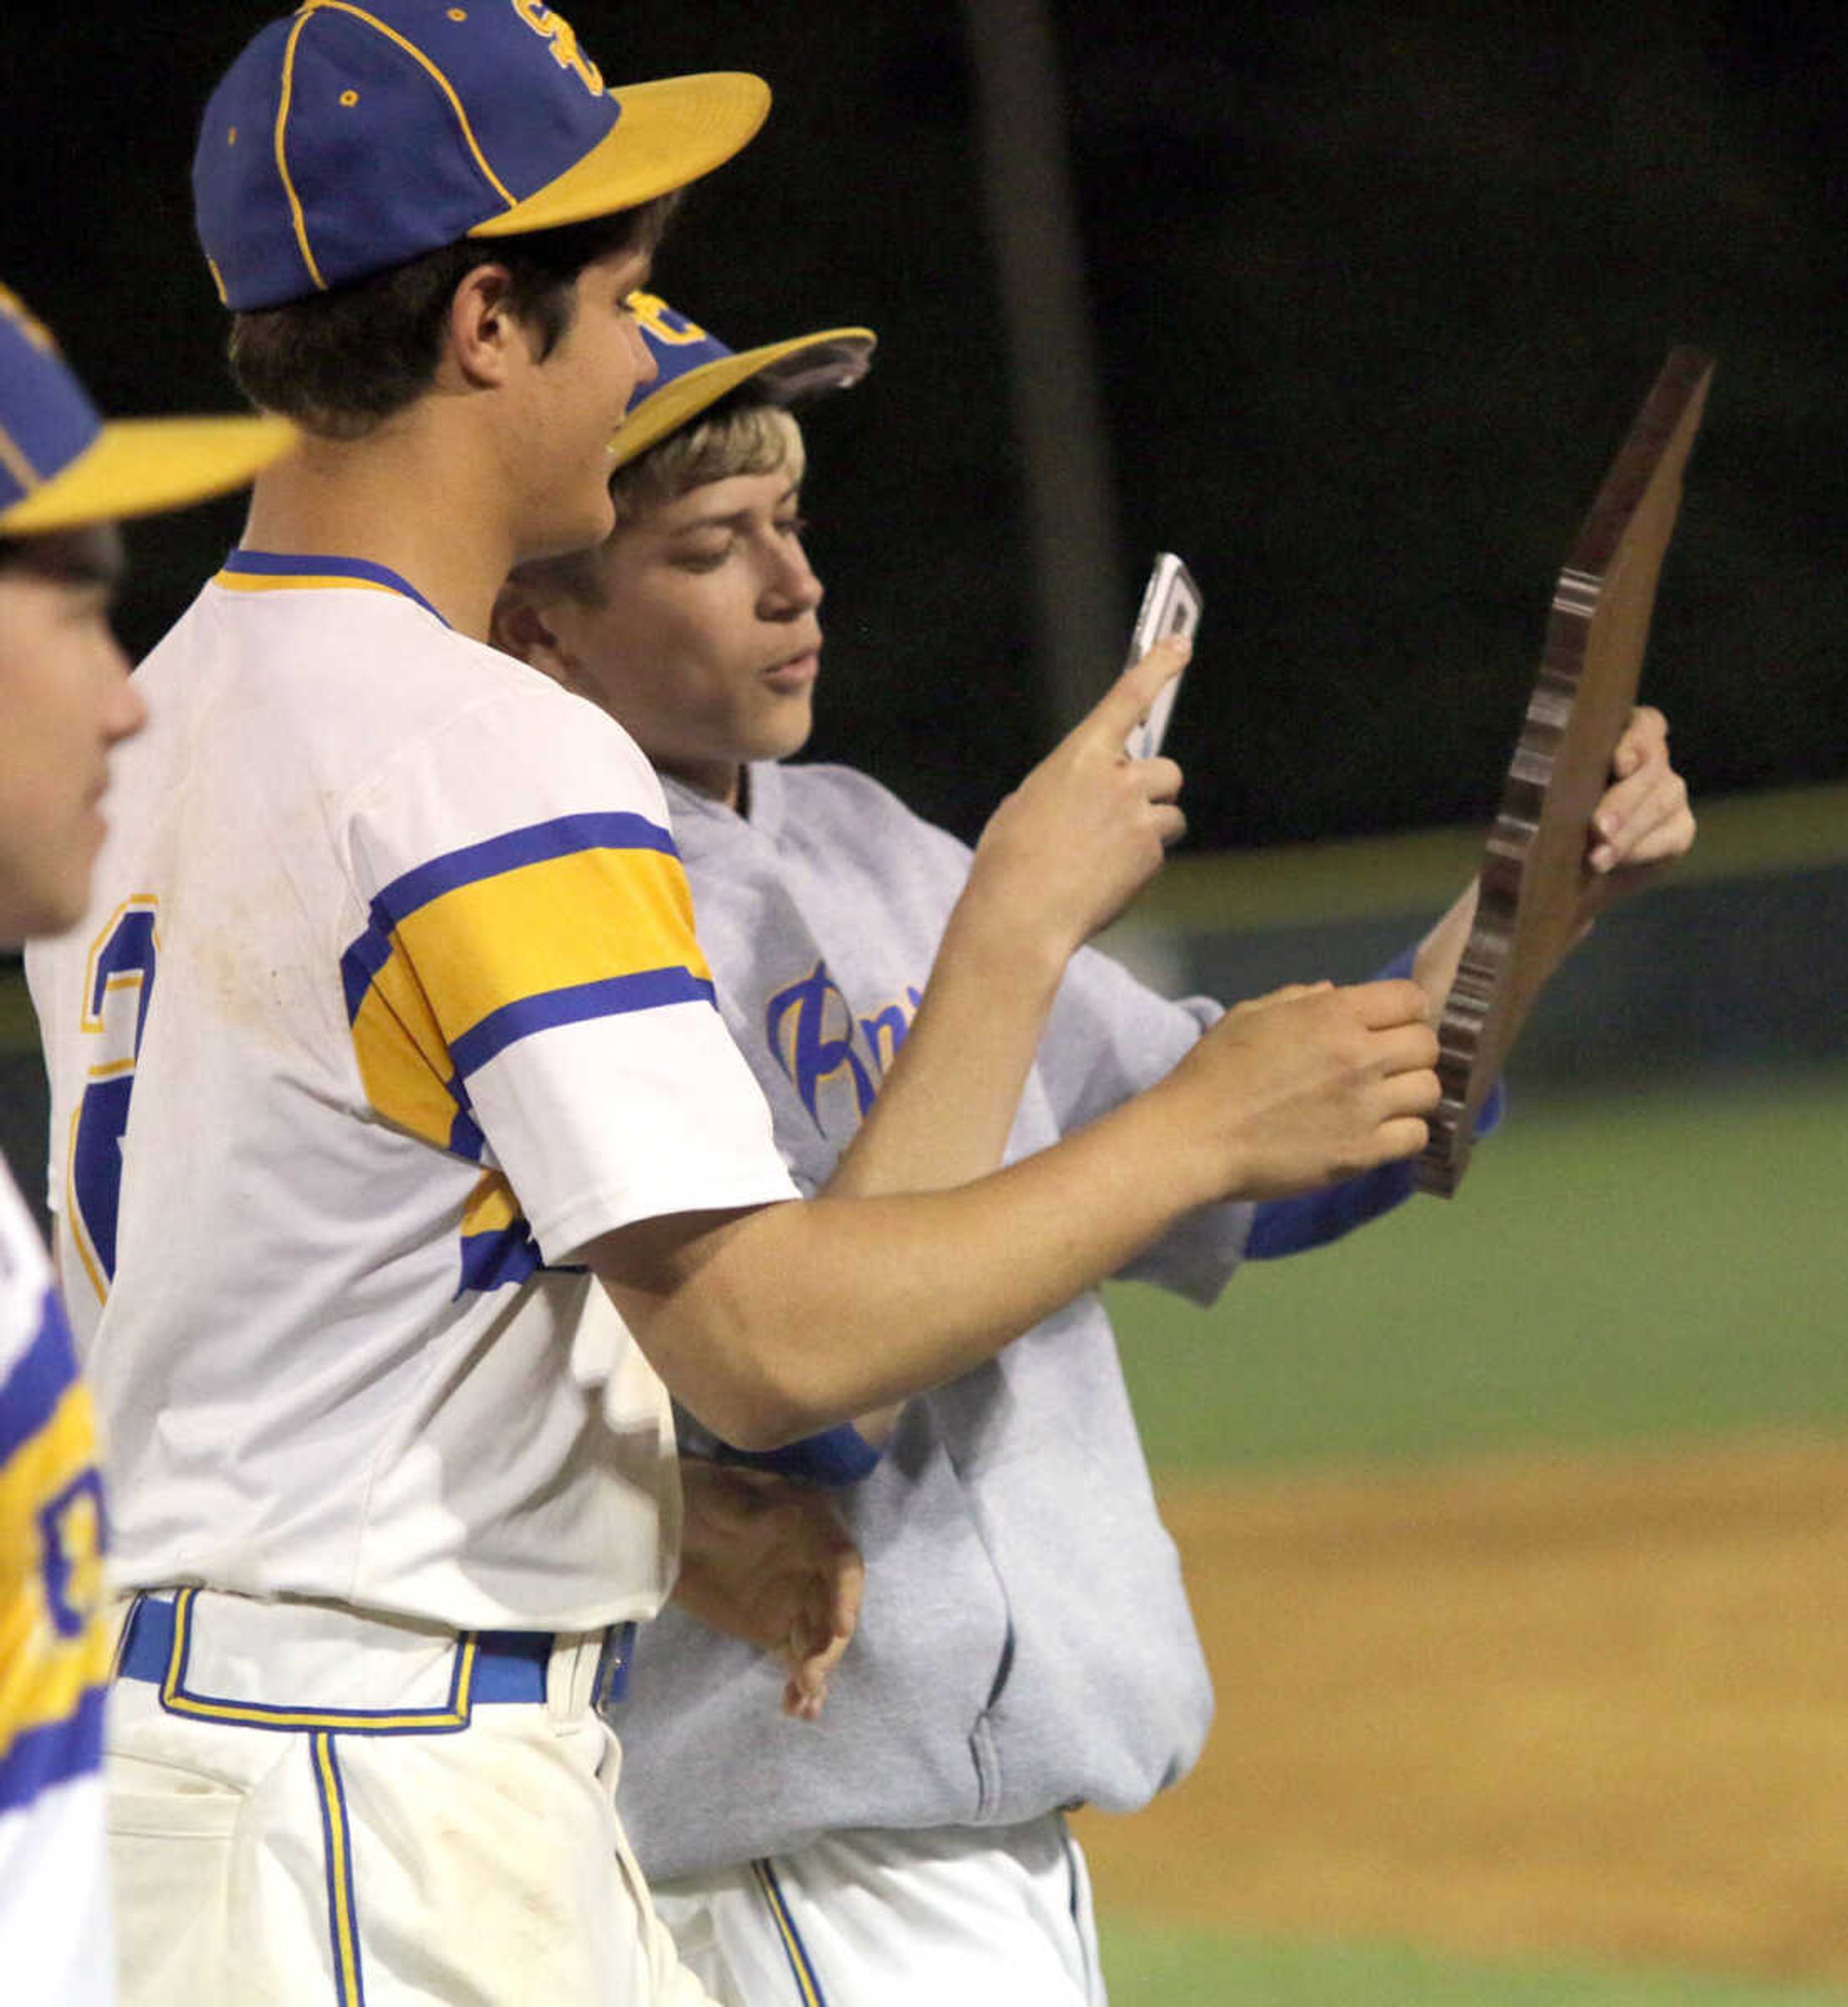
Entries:
POLYGON ((199 239, 227 307, 279 307, 464 237, 652 201, 768 108, 732 72, 610 88, 538 0, 305 0, 205 108, 199 239))

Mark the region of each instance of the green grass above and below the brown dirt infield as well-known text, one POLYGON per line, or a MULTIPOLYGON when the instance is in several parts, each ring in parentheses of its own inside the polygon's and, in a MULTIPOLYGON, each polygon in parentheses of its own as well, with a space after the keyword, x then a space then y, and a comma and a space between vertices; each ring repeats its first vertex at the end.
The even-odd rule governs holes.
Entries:
MULTIPOLYGON (((1455 1200, 1254 1264, 1208 1313, 1112 1291, 1158 1475, 1848 1425, 1848 1070, 1543 1100, 1455 1200)), ((1661 1971, 1469 1965, 1104 1919, 1114 2007, 1844 2007, 1661 1971)))

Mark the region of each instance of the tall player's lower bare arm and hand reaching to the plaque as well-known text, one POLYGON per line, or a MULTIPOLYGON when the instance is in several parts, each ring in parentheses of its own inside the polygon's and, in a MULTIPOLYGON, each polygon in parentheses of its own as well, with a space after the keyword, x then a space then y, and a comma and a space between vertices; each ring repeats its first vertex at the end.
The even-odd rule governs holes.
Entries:
POLYGON ((1134 1102, 975 1184, 640 1220, 590 1264, 686 1407, 775 1447, 965 1373, 1196 1206, 1423 1148, 1423 1004, 1405 981, 1278 991, 1134 1102))

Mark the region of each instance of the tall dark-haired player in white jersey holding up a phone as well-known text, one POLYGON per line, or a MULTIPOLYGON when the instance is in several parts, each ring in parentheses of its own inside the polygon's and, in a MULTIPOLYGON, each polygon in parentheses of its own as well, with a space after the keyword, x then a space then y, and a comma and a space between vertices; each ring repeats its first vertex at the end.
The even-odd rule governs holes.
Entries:
MULTIPOLYGON (((983 1186, 785 1202, 648 763, 486 646, 516 562, 608 532, 656 199, 764 106, 606 88, 534 0, 307 0, 207 104, 233 363, 307 440, 144 664, 94 905, 30 969, 118 1469, 132 2001, 702 1997, 596 1710, 674 1571, 662 1383, 771 1447, 991 1355, 1204 1198, 1425 1138, 1435 1040, 1380 983, 1204 1040, 983 1186)), ((1098 831, 1053 917, 971 901, 947 1036, 1154 869, 1174 777, 1116 751, 1152 688, 1047 783, 1098 831)), ((859 1162, 879 1190, 877 1124, 859 1162)))

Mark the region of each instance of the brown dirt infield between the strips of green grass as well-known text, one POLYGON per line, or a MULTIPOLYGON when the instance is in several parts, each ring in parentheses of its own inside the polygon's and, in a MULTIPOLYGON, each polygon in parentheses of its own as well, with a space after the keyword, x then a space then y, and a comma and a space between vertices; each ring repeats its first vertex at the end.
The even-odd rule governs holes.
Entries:
POLYGON ((1848 1445, 1164 1503, 1218 1722, 1106 1911, 1848 1981, 1848 1445))

